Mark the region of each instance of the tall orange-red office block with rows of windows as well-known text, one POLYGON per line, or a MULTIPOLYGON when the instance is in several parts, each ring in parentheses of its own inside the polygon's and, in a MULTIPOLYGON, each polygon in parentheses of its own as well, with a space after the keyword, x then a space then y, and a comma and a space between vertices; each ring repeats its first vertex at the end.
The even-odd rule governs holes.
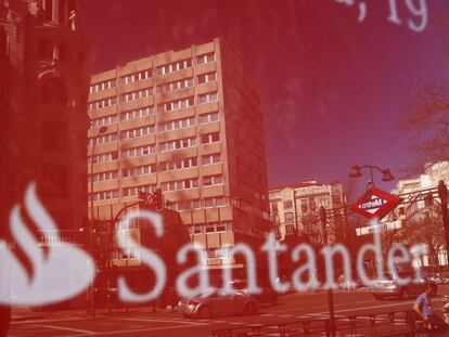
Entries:
POLYGON ((209 269, 271 230, 259 94, 222 40, 92 76, 88 111, 95 218, 161 187, 209 269))

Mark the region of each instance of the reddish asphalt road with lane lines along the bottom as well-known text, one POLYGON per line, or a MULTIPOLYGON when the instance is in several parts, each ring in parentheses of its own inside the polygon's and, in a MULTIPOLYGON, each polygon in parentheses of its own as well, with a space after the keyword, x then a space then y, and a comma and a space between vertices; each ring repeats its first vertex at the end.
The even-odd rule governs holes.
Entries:
MULTIPOLYGON (((448 286, 439 287, 439 296, 433 299, 434 310, 441 308, 441 296, 449 294, 448 286)), ((394 310, 408 310, 413 300, 375 300, 367 290, 336 291, 334 307, 336 315, 372 314, 394 310)), ((328 317, 325 293, 288 294, 279 298, 275 306, 262 304, 256 315, 218 316, 210 320, 184 319, 178 312, 151 308, 133 308, 129 315, 123 309, 115 310, 110 317, 99 310, 95 319, 85 311, 60 311, 31 313, 13 310, 9 336, 154 336, 154 337, 209 337, 210 332, 224 327, 257 326, 259 324, 292 322, 298 319, 328 317)))

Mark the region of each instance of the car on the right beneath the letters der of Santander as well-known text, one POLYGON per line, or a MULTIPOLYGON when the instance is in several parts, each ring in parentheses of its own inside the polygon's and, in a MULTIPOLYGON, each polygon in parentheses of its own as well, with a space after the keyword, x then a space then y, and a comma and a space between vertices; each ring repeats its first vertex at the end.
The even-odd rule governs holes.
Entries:
MULTIPOLYGON (((400 272, 399 277, 411 277, 414 278, 414 272, 400 272)), ((399 297, 401 299, 409 299, 412 296, 418 296, 424 293, 424 289, 427 284, 431 284, 433 287, 432 296, 435 296, 438 291, 438 286, 435 282, 424 276, 420 282, 410 282, 406 285, 399 285, 395 276, 390 273, 384 274, 384 281, 376 281, 374 286, 372 286, 371 294, 376 299, 383 299, 385 297, 399 297)))

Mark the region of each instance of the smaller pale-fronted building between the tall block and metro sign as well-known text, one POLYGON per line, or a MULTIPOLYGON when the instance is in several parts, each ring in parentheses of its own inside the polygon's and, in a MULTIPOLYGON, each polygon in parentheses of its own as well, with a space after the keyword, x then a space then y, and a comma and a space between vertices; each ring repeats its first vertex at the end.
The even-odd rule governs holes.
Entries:
MULTIPOLYGON (((345 195, 341 183, 320 184, 306 181, 299 184, 279 186, 269 191, 271 215, 277 219, 278 236, 281 241, 287 235, 302 234, 309 236, 311 242, 321 243, 321 223, 319 208, 338 208, 345 205, 345 195)), ((338 236, 337 224, 341 219, 329 222, 329 241, 338 236)))

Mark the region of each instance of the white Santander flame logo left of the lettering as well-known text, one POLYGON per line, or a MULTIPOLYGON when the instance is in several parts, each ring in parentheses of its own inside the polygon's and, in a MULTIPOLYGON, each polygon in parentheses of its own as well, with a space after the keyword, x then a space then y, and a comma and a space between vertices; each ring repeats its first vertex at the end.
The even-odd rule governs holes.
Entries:
MULTIPOLYGON (((59 237, 57 226, 30 183, 25 193, 25 209, 38 230, 59 237)), ((27 272, 4 241, 0 241, 0 304, 39 306, 69 299, 92 280, 94 261, 73 244, 59 242, 43 251, 21 216, 21 205, 10 213, 10 229, 17 246, 31 264, 27 272)))

